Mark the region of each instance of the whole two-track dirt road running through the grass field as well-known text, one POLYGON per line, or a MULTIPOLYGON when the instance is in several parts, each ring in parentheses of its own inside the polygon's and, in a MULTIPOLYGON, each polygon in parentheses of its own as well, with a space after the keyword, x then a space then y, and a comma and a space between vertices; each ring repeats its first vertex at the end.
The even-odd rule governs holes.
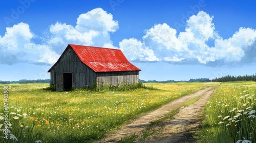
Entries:
POLYGON ((188 94, 173 102, 170 102, 161 108, 148 112, 146 115, 137 118, 133 123, 122 127, 116 133, 107 134, 103 140, 96 142, 117 142, 122 137, 129 137, 133 134, 140 134, 150 122, 159 120, 165 114, 178 108, 180 105, 203 95, 197 102, 187 107, 180 109, 175 115, 174 120, 163 121, 164 126, 154 127, 161 128, 158 133, 143 142, 194 142, 189 131, 197 130, 201 124, 198 114, 201 113, 203 105, 206 103, 209 96, 214 92, 214 88, 208 87, 199 90, 193 94, 188 94))

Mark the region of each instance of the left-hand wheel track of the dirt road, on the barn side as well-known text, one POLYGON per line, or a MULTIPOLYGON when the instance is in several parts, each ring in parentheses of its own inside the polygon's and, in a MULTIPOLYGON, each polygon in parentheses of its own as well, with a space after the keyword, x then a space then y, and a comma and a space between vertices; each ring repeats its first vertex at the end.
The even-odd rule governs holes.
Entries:
MULTIPOLYGON (((188 101, 190 101, 190 100, 192 100, 196 97, 201 96, 204 93, 207 94, 207 95, 209 94, 209 96, 210 96, 210 94, 212 92, 214 92, 214 90, 212 90, 212 87, 207 87, 207 88, 201 89, 201 90, 199 90, 195 93, 188 94, 187 96, 181 97, 181 98, 179 98, 175 101, 172 101, 172 102, 170 102, 170 103, 168 103, 168 104, 166 104, 166 105, 164 105, 164 106, 162 106, 162 107, 160 107, 160 108, 158 108, 154 111, 148 112, 145 115, 138 117, 131 124, 125 125, 120 130, 118 130, 117 132, 115 132, 113 134, 106 134, 106 137, 103 140, 99 140, 99 141, 95 141, 95 142, 97 142, 97 143, 117 142, 121 138, 129 137, 133 134, 139 134, 139 133, 141 133, 141 131, 145 130, 145 128, 148 125, 150 125, 150 122, 159 120, 161 117, 164 117, 165 114, 167 114, 170 111, 176 109, 180 105, 182 105, 182 104, 184 104, 184 103, 186 103, 186 102, 188 102, 188 101)), ((205 98, 205 100, 207 100, 208 96, 203 96, 202 98, 205 98)), ((191 109, 191 110, 189 109, 189 112, 193 112, 193 110, 194 109, 191 109)), ((190 118, 190 117, 188 117, 188 118, 190 118)), ((188 120, 188 118, 185 117, 184 120, 188 120)), ((183 120, 183 119, 181 118, 181 120, 183 120)), ((179 123, 179 119, 178 119, 178 121, 175 121, 175 122, 179 123)), ((170 126, 172 125, 171 121, 170 121, 170 123, 166 122, 166 124, 169 124, 170 126)), ((162 134, 164 135, 163 137, 168 140, 168 134, 171 135, 172 133, 167 133, 167 131, 166 131, 162 134)), ((160 140, 148 140, 148 141, 149 142, 155 142, 155 141, 159 142, 160 140)))

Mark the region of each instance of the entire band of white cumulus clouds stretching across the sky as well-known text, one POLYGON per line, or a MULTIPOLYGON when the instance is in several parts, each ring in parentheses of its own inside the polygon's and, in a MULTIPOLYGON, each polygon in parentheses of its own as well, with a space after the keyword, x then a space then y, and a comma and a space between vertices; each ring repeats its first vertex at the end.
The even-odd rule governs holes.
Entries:
MULTIPOLYGON (((0 36, 0 63, 15 62, 48 63, 57 61, 68 43, 119 48, 131 61, 186 62, 213 61, 239 62, 256 52, 256 30, 240 28, 231 37, 224 39, 215 29, 214 16, 198 12, 186 21, 185 31, 177 30, 167 23, 157 23, 145 30, 141 39, 128 38, 115 47, 110 34, 119 28, 113 15, 101 8, 80 14, 76 25, 56 22, 42 36, 40 44, 34 43, 34 35, 27 23, 21 22, 6 28, 0 36), (211 44, 209 45, 209 41, 211 44)), ((255 56, 254 56, 255 57, 255 56)), ((191 63, 191 62, 190 62, 191 63)))

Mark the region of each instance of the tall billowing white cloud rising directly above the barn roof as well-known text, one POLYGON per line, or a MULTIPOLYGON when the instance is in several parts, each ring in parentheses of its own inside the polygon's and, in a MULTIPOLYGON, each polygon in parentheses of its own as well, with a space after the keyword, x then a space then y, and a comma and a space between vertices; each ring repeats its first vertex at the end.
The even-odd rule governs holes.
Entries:
POLYGON ((76 26, 56 22, 50 26, 51 39, 49 44, 55 51, 63 51, 67 43, 114 47, 110 33, 118 29, 118 21, 113 20, 113 15, 101 8, 93 9, 80 14, 76 26))

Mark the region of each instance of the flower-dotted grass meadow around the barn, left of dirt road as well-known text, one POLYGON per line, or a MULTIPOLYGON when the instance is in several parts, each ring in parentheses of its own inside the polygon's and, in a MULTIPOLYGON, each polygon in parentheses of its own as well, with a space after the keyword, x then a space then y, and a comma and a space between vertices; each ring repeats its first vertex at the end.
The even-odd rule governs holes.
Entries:
MULTIPOLYGON (((132 91, 49 91, 49 84, 9 84, 6 142, 92 142, 127 120, 213 83, 152 83, 132 91)), ((4 85, 3 85, 4 87, 4 85)), ((4 94, 1 87, 0 93, 4 94)), ((3 100, 0 100, 1 106, 3 100)), ((0 128, 4 129, 4 107, 0 128)), ((0 136, 4 136, 0 132, 0 136)))

